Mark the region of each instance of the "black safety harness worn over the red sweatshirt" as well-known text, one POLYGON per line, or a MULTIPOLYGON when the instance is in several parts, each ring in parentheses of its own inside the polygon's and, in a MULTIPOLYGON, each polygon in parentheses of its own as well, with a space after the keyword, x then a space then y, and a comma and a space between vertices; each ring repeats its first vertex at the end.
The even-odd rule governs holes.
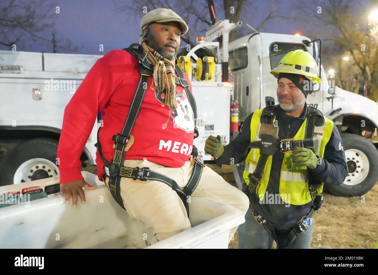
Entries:
MULTIPOLYGON (((107 159, 102 155, 101 151, 101 144, 99 140, 99 132, 101 127, 99 127, 97 132, 97 148, 99 155, 104 162, 104 176, 109 178, 108 182, 108 188, 110 190, 110 193, 112 194, 113 198, 116 200, 116 202, 123 208, 124 204, 122 201, 122 197, 120 194, 120 182, 122 177, 126 177, 133 180, 157 180, 160 182, 165 183, 166 185, 170 186, 175 192, 177 192, 180 199, 183 201, 186 212, 189 216, 189 207, 187 204, 187 197, 192 194, 192 192, 195 190, 195 188, 198 185, 198 182, 200 181, 202 169, 204 167, 204 164, 197 158, 198 152, 197 148, 193 145, 192 149, 192 155, 195 160, 194 167, 192 171, 192 175, 189 179, 189 182, 187 185, 181 190, 180 186, 169 177, 160 174, 158 172, 150 170, 148 167, 127 167, 124 166, 124 158, 125 158, 125 147, 127 143, 129 143, 130 140, 130 134, 133 130, 133 127, 135 125, 136 118, 138 117, 139 110, 141 109, 142 101, 144 98, 144 95, 147 90, 147 83, 148 78, 152 76, 153 73, 153 64, 151 61, 146 58, 147 53, 143 51, 139 44, 134 43, 130 45, 129 48, 124 48, 124 50, 128 51, 132 56, 136 57, 139 62, 139 82, 138 86, 136 88, 129 113, 127 114, 127 118, 125 121, 125 124, 122 128, 121 133, 118 133, 116 135, 113 135, 112 140, 115 143, 115 152, 113 156, 112 162, 108 162, 107 159), (137 48, 134 48, 137 46, 137 48)), ((193 97, 193 94, 191 90, 189 90, 189 85, 184 78, 184 74, 181 71, 181 68, 179 66, 175 66, 175 70, 178 74, 178 77, 175 76, 175 83, 176 85, 179 85, 185 89, 185 92, 187 94, 187 98, 189 100, 189 103, 192 106, 193 112, 194 112, 194 121, 197 121, 197 106, 195 104, 195 99, 193 97)), ((195 127, 194 131, 194 138, 198 137, 198 130, 197 127, 195 127)))

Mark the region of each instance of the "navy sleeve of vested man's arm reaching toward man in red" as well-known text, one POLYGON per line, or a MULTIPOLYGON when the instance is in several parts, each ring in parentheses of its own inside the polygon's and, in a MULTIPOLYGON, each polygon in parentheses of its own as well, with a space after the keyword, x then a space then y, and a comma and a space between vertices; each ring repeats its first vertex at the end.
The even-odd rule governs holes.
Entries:
POLYGON ((251 143, 251 119, 253 113, 251 113, 243 122, 240 127, 240 132, 236 138, 225 145, 225 151, 223 154, 215 158, 215 161, 219 164, 237 164, 244 160, 246 157, 246 150, 249 143, 251 143))

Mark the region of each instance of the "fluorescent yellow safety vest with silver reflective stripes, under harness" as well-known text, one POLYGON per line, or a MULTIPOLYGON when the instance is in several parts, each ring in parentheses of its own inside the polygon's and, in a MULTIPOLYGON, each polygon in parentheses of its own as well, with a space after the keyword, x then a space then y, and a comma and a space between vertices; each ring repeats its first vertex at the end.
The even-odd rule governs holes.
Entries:
MULTIPOLYGON (((259 138, 260 131, 260 116, 263 109, 257 109, 254 111, 251 119, 251 142, 261 140, 259 138)), ((276 117, 273 119, 273 123, 276 117)), ((325 118, 325 123, 323 126, 314 127, 314 151, 315 154, 323 158, 325 145, 328 143, 333 129, 333 121, 325 118)), ((307 118, 305 118, 298 132, 294 136, 295 140, 302 140, 305 138, 305 129, 307 124, 307 118)), ((282 154, 281 152, 276 152, 276 154, 282 154)), ((285 153, 282 161, 282 166, 280 170, 280 185, 279 193, 283 201, 288 204, 293 205, 303 205, 311 201, 311 194, 308 192, 306 187, 306 181, 308 180, 307 167, 296 167, 290 158, 290 153, 285 153)), ((256 169, 257 162, 260 158, 260 149, 251 148, 246 160, 245 160, 245 170, 243 172, 243 178, 247 185, 249 185, 248 174, 253 173, 256 169)), ((266 161, 263 176, 260 182, 260 186, 256 186, 256 194, 263 200, 265 196, 266 188, 268 187, 269 176, 272 166, 273 156, 269 156, 266 161)), ((274 168, 274 169, 277 169, 274 168)), ((323 185, 321 185, 316 194, 320 194, 323 190, 323 185)))

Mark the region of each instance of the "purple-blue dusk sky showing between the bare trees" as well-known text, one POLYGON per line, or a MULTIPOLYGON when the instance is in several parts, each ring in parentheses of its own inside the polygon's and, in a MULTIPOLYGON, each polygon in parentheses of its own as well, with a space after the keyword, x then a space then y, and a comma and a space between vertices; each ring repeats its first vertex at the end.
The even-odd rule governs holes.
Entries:
MULTIPOLYGON (((5 1, 2 6, 6 5, 5 1)), ((141 4, 136 4, 136 1, 132 0, 46 0, 46 4, 51 4, 52 6, 47 9, 46 5, 38 5, 40 0, 16 0, 17 3, 22 7, 23 3, 32 3, 33 7, 37 7, 40 11, 48 12, 51 18, 45 19, 48 23, 54 23, 53 29, 48 29, 40 36, 46 39, 52 39, 52 33, 55 31, 57 40, 68 40, 71 42, 72 46, 77 46, 80 49, 77 51, 71 50, 57 50, 57 53, 81 53, 81 54, 105 54, 113 49, 120 49, 128 47, 132 43, 136 43, 139 34, 141 33, 139 24, 144 16, 143 6, 147 6, 147 11, 152 9, 148 1, 139 1, 141 4), (116 2, 116 4, 114 3, 116 2), (138 7, 138 11, 132 12, 130 14, 121 11, 119 9, 127 5, 133 5, 138 7), (56 14, 56 6, 59 6, 60 13, 56 14), (99 51, 99 45, 104 45, 104 51, 99 51)), ((327 0, 312 0, 310 2, 311 12, 316 13, 316 8, 322 5, 324 1, 327 0)), ((373 0, 351 0, 348 4, 353 6, 350 10, 358 11, 361 6, 368 9, 371 6, 373 0), (358 4, 360 3, 360 4, 358 4), (361 5, 361 6, 360 6, 361 5)), ((164 0, 161 0, 164 3, 164 0)), ((266 0, 255 0, 246 1, 247 3, 253 3, 253 6, 247 6, 245 4, 242 9, 240 19, 243 22, 241 28, 237 30, 240 34, 249 34, 253 31, 248 28, 246 23, 257 28, 257 26, 262 22, 262 20, 267 16, 270 10, 273 10, 276 15, 283 18, 273 18, 268 20, 263 28, 260 28, 260 32, 269 33, 284 33, 284 34, 295 34, 300 33, 302 35, 314 38, 311 34, 322 30, 321 27, 316 23, 305 23, 297 19, 295 12, 299 11, 301 3, 308 3, 307 0, 282 0, 282 1, 266 1, 266 0), (277 4, 278 3, 278 4, 277 4), (294 7, 293 7, 294 3, 294 7)), ((177 3, 177 2, 167 2, 167 3, 177 3)), ((182 5, 188 2, 183 2, 183 0, 178 0, 178 3, 182 5)), ((192 3, 192 2, 190 2, 192 3)), ((208 7, 206 1, 204 0, 194 0, 194 3, 199 12, 203 12, 203 16, 206 20, 210 20, 208 7), (198 5, 197 5, 198 3, 198 5), (201 8, 203 6, 203 8, 201 8)), ((215 13, 217 15, 217 20, 224 19, 223 11, 223 1, 214 0, 215 13)), ((158 8, 167 8, 167 6, 157 6, 158 8)), ((174 9, 174 11, 178 12, 174 9)), ((178 12, 180 15, 180 12, 178 12)), ((364 20, 364 17, 361 17, 364 20)), ((188 34, 191 35, 192 40, 196 36, 205 35, 205 32, 198 32, 194 28, 195 20, 189 19, 187 25, 189 25, 188 34)), ((11 35, 10 35, 11 36, 11 35)), ((240 35, 241 36, 241 35, 240 35)), ((185 37, 185 36, 184 36, 185 37)), ((316 37, 323 38, 323 37, 316 37)), ((186 43, 181 40, 181 46, 185 46, 186 43)), ((324 43, 327 46, 327 41, 324 43)), ((1 50, 11 50, 11 48, 5 48, 0 45, 1 50)), ((36 51, 36 52, 53 52, 52 45, 47 46, 42 41, 37 41, 32 43, 31 39, 27 35, 23 36, 23 40, 17 42, 18 51, 36 51)))

